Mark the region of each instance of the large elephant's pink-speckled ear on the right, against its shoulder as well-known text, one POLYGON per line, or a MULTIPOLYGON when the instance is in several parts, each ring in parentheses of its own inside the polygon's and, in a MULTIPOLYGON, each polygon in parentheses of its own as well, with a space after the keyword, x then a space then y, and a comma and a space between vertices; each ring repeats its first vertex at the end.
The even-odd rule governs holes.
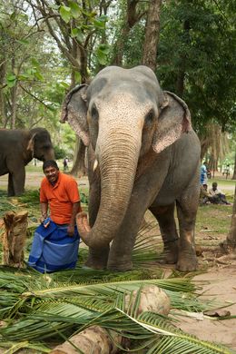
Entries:
POLYGON ((163 94, 164 104, 152 141, 152 148, 157 153, 180 139, 182 133, 188 133, 192 129, 191 114, 187 104, 174 93, 165 91, 163 94))

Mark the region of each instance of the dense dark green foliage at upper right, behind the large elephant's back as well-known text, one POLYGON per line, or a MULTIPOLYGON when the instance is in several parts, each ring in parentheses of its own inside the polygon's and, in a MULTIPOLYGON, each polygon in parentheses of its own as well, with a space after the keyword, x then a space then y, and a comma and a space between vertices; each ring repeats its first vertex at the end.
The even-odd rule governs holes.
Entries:
POLYGON ((231 1, 183 1, 162 6, 157 75, 189 104, 198 133, 207 121, 235 129, 236 40, 231 1), (174 48, 174 50, 173 50, 174 48), (178 80, 184 75, 183 93, 178 80))

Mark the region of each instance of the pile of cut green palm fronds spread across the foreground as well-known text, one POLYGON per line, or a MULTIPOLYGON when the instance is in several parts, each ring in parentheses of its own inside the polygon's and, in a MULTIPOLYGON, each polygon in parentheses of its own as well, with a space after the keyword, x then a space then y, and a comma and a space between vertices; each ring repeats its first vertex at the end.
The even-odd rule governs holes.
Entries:
POLYGON ((166 319, 152 312, 136 315, 138 300, 125 310, 125 296, 148 283, 166 291, 173 309, 211 308, 210 303, 198 299, 190 278, 156 279, 154 276, 150 271, 149 279, 141 280, 141 270, 121 274, 79 267, 74 271, 42 275, 34 270, 2 267, 1 346, 10 348, 9 353, 20 348, 49 352, 52 343, 98 325, 129 339, 129 351, 134 353, 231 353, 230 349, 183 333, 173 325, 176 325, 173 317, 166 319))

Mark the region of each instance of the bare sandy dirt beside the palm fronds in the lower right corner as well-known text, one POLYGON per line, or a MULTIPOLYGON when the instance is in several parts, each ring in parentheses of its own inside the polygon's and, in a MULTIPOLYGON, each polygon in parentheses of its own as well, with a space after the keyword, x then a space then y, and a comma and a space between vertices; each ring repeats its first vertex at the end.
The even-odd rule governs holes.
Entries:
MULTIPOLYGON (((227 266, 212 267, 207 273, 194 277, 194 280, 209 282, 201 290, 202 300, 217 300, 222 306, 232 304, 223 310, 229 310, 231 316, 236 315, 236 261, 231 261, 227 266)), ((236 352, 236 318, 217 320, 213 317, 200 317, 200 320, 195 320, 184 317, 180 328, 199 339, 226 345, 236 352)))

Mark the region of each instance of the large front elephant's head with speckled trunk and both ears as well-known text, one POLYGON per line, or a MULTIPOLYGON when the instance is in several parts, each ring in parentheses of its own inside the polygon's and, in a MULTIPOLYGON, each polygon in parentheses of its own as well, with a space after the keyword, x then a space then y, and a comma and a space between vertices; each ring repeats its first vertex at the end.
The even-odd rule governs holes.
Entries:
POLYGON ((84 242, 93 249, 107 246, 119 229, 138 163, 147 153, 160 153, 191 129, 185 103, 163 92, 146 66, 110 66, 93 82, 68 93, 62 120, 84 144, 92 145, 101 175, 101 202, 93 228, 78 217, 84 242))

